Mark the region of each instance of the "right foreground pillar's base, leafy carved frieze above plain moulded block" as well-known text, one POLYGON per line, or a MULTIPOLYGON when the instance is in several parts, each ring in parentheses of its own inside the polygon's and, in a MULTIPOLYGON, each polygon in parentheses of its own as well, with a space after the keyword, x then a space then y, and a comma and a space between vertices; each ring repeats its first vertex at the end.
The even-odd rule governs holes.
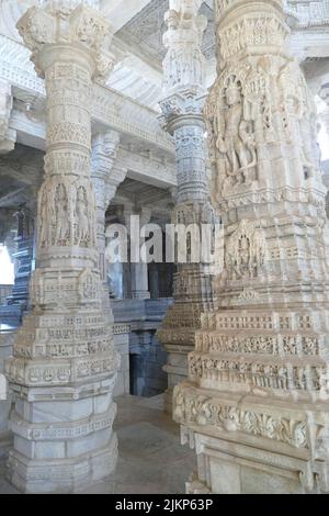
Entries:
POLYGON ((174 390, 182 444, 197 457, 189 494, 329 492, 326 404, 202 390, 174 390), (205 491, 204 491, 205 492, 205 491))

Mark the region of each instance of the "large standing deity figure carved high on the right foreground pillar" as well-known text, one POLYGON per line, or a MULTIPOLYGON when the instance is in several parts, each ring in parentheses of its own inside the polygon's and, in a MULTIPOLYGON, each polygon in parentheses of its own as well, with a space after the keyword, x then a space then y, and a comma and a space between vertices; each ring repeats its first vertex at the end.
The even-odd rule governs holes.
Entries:
POLYGON ((257 153, 252 123, 245 119, 241 83, 234 76, 227 81, 224 101, 224 109, 217 113, 216 147, 225 156, 225 187, 231 187, 252 180, 257 153))

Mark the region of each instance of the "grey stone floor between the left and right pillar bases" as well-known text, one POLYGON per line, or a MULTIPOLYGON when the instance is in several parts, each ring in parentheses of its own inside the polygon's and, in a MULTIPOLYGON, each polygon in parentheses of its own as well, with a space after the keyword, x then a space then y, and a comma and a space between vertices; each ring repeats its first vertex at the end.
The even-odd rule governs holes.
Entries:
MULTIPOLYGON (((120 458, 114 474, 87 494, 182 494, 196 470, 195 455, 180 445, 179 428, 162 412, 162 396, 121 396, 115 429, 120 458)), ((0 494, 18 493, 3 478, 0 450, 0 494)))

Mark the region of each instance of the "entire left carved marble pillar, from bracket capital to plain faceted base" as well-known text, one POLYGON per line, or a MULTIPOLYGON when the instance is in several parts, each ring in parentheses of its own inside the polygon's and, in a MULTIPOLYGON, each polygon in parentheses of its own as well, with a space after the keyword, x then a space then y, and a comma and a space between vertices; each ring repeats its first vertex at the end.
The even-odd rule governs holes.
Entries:
POLYGON ((111 69, 111 29, 98 11, 71 5, 44 2, 18 24, 47 92, 32 313, 5 364, 15 393, 8 474, 25 493, 83 487, 111 473, 117 455, 118 356, 102 304, 90 172, 92 80, 111 69))

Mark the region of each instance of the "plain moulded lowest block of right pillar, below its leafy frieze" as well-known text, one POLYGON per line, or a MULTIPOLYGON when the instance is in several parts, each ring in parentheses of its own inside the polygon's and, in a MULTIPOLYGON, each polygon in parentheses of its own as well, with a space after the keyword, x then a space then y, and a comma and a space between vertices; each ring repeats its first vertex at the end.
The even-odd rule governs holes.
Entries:
POLYGON ((197 455, 197 474, 186 483, 188 494, 324 493, 305 459, 203 434, 194 439, 203 451, 197 455))

